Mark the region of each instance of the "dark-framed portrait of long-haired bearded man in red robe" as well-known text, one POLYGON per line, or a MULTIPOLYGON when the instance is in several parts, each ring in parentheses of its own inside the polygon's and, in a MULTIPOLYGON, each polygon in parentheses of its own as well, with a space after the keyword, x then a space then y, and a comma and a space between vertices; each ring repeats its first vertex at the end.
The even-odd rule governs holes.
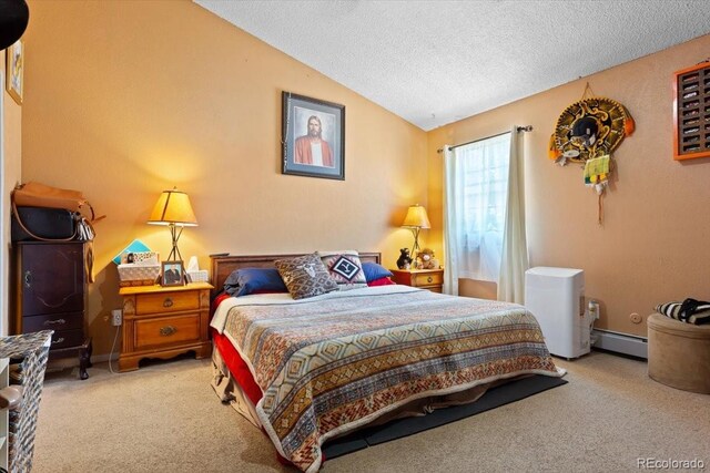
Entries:
POLYGON ((345 105, 283 92, 283 174, 345 179, 345 105))

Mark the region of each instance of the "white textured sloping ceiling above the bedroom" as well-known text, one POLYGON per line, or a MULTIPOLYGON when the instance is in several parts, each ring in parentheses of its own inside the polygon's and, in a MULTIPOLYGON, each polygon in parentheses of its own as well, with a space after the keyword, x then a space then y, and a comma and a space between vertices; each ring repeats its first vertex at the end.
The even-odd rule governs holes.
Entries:
POLYGON ((708 0, 194 1, 427 131, 710 32, 708 0))

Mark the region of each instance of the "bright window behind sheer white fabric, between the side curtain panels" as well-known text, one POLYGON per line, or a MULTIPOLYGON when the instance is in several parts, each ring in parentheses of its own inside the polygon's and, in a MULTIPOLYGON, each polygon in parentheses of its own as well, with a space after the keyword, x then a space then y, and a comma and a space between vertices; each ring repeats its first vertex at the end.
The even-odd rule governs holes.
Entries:
POLYGON ((508 200, 510 133, 458 146, 453 152, 455 202, 448 204, 456 232, 458 277, 497 281, 508 200), (453 204, 453 205, 452 205, 453 204))

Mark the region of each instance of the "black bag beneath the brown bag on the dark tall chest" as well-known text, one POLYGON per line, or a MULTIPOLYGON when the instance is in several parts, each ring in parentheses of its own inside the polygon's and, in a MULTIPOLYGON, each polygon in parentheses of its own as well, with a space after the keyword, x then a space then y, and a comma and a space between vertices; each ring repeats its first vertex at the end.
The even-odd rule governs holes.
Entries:
POLYGON ((18 216, 12 213, 12 241, 29 241, 40 238, 51 240, 72 239, 77 235, 77 219, 74 213, 64 208, 48 207, 16 207, 18 216), (24 228, 30 230, 30 235, 24 228))

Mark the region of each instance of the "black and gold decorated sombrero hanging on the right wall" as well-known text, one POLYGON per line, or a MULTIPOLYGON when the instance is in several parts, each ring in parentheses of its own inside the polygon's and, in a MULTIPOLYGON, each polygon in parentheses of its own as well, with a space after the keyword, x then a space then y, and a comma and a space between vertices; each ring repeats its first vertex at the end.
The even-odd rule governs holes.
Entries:
POLYGON ((599 195, 599 217, 604 219, 602 195, 613 168, 611 153, 636 128, 631 114, 619 102, 590 96, 589 84, 582 100, 569 105, 557 119, 550 136, 549 158, 564 166, 568 161, 584 163, 585 184, 599 195))

